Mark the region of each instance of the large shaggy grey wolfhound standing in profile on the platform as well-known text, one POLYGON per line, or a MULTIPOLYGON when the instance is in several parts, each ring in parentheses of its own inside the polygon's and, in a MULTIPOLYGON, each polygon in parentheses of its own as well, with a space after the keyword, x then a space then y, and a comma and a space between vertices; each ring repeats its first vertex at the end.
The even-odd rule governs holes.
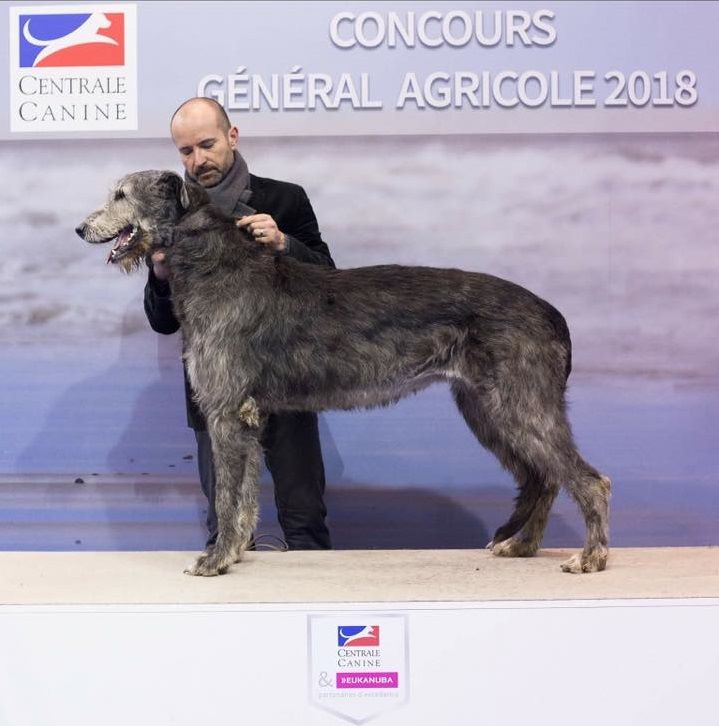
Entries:
POLYGON ((239 561, 257 523, 260 434, 269 413, 384 406, 447 380, 479 442, 515 477, 495 555, 536 553, 566 487, 584 516, 584 550, 565 572, 606 566, 610 482, 581 457, 565 409, 571 369, 562 315, 491 275, 381 265, 335 270, 245 237, 204 190, 171 172, 120 180, 77 228, 114 242, 126 271, 164 248, 184 358, 217 473, 217 544, 187 570, 239 561))

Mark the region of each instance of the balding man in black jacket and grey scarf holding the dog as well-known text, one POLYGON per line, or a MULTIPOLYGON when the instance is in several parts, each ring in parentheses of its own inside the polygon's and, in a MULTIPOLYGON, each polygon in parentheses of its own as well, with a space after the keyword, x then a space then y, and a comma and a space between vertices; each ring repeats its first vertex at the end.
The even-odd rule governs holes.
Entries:
MULTIPOLYGON (((185 167, 188 184, 200 184, 211 202, 258 244, 302 262, 334 263, 322 241, 304 190, 250 174, 237 151, 238 131, 225 109, 208 98, 192 98, 172 117, 170 132, 185 167)), ((152 255, 145 286, 145 312, 153 330, 179 328, 170 303, 169 271, 163 252, 152 255)), ((217 538, 215 472, 205 420, 192 399, 185 372, 188 424, 195 430, 202 490, 208 499, 208 545, 217 538)), ((289 549, 329 549, 325 525, 325 477, 317 416, 313 413, 269 417, 263 441, 265 461, 275 484, 277 515, 289 549)))

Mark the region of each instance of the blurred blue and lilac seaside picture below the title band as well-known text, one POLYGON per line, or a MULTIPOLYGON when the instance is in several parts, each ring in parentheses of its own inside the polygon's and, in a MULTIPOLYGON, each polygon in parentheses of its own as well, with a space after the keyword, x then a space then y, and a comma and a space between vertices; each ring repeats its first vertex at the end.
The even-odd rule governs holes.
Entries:
MULTIPOLYGON (((717 544, 719 134, 244 139, 301 184, 339 267, 461 267, 551 301, 574 346, 570 416, 614 480, 615 544, 717 544)), ((144 274, 74 227, 169 141, 0 145, 0 548, 202 542, 178 336, 153 333, 144 274)), ((447 390, 321 417, 339 547, 476 547, 512 482, 447 390)), ((274 524, 263 484, 262 527, 274 524)), ((568 499, 545 540, 577 545, 568 499)))

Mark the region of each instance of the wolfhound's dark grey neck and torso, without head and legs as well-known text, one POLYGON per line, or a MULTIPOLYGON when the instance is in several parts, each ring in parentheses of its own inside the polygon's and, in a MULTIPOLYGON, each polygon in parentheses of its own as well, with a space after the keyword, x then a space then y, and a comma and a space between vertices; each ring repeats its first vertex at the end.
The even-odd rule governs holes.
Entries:
POLYGON ((248 240, 211 207, 177 226, 169 262, 192 369, 226 361, 266 410, 386 404, 436 380, 489 378, 527 355, 564 389, 561 314, 491 275, 306 265, 248 240))

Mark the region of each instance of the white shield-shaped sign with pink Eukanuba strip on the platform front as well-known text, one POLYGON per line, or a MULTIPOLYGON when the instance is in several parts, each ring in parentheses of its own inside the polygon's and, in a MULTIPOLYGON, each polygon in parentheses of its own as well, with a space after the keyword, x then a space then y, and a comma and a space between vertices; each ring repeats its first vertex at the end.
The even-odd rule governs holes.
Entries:
POLYGON ((308 616, 310 702, 353 724, 406 703, 407 617, 308 616))

